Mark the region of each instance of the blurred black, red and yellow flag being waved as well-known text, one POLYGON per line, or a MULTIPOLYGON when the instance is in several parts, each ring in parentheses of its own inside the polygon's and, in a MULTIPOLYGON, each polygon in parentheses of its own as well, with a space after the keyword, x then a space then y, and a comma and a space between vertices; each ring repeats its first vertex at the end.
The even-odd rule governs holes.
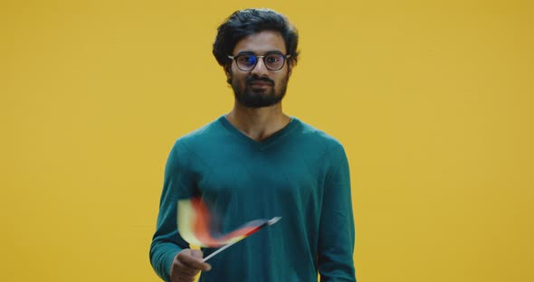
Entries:
POLYGON ((219 248, 243 240, 262 227, 280 220, 279 217, 275 217, 271 220, 249 221, 232 232, 222 234, 217 230, 217 222, 202 198, 178 201, 177 211, 178 232, 182 238, 190 244, 209 248, 219 248))

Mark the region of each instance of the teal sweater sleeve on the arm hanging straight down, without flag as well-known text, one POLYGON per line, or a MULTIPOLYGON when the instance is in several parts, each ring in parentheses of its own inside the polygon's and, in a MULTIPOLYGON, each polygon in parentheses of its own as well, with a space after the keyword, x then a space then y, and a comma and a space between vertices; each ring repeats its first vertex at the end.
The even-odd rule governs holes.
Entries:
POLYGON ((342 146, 331 149, 330 160, 319 224, 320 281, 356 281, 350 175, 342 146))

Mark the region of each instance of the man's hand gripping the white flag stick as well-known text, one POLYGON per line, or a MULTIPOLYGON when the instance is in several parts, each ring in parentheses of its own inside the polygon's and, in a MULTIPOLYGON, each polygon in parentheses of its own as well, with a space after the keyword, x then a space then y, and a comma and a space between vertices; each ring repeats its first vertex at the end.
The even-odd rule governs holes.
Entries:
POLYGON ((200 270, 209 271, 212 267, 202 261, 200 249, 184 249, 180 251, 170 268, 172 282, 193 282, 200 270))

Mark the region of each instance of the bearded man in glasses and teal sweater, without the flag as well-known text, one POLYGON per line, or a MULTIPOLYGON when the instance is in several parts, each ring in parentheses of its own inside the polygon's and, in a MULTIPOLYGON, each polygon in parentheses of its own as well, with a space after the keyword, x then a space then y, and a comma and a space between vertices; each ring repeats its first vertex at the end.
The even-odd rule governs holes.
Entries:
POLYGON ((227 115, 179 138, 167 160, 150 261, 166 281, 356 281, 348 161, 334 138, 281 109, 298 34, 268 9, 232 14, 214 55, 234 89, 227 115), (176 229, 176 202, 202 196, 234 230, 281 221, 202 261, 176 229))

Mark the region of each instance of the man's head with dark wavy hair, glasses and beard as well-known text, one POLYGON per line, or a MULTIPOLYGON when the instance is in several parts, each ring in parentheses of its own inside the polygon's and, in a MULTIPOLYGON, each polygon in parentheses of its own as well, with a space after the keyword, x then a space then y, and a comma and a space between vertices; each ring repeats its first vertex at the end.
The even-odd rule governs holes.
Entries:
POLYGON ((235 99, 249 108, 281 101, 299 52, 299 34, 269 9, 236 11, 217 29, 213 53, 235 99))

